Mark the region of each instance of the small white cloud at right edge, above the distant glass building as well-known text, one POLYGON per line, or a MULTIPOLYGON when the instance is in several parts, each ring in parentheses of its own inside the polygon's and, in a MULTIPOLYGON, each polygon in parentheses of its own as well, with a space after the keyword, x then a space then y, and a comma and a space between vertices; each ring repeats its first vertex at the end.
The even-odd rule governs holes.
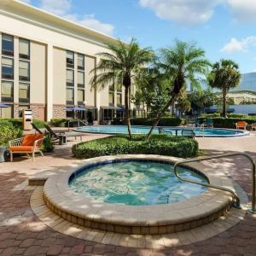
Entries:
POLYGON ((230 53, 234 51, 247 51, 249 46, 256 45, 256 37, 251 36, 237 40, 236 38, 231 38, 230 43, 225 44, 221 51, 230 53))

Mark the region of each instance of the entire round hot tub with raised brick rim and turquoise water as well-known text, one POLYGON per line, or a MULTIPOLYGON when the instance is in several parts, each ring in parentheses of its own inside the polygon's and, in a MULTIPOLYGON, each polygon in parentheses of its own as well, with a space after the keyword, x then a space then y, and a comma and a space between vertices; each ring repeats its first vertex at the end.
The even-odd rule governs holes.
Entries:
MULTIPOLYGON (((183 183, 173 175, 178 159, 160 155, 104 156, 49 177, 44 201, 73 224, 123 234, 155 235, 212 222, 232 206, 230 193, 183 183)), ((183 177, 233 186, 218 170, 183 166, 183 177)))

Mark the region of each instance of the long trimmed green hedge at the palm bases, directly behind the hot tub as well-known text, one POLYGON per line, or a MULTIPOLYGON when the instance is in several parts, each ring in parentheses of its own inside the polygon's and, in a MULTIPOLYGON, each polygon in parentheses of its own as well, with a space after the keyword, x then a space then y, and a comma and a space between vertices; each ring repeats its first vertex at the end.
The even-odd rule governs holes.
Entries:
POLYGON ((198 143, 187 137, 166 134, 153 135, 149 140, 143 135, 134 136, 132 140, 119 135, 75 144, 72 152, 83 159, 113 154, 161 154, 186 158, 198 154, 198 143))

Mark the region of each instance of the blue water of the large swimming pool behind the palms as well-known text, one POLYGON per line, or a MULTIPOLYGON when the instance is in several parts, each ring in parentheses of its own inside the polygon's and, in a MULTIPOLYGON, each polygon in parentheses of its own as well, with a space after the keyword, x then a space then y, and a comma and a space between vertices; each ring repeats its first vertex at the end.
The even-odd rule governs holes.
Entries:
MULTIPOLYGON (((147 134, 150 126, 132 126, 132 134, 147 134)), ((172 135, 181 136, 183 127, 163 127, 165 131, 172 131, 172 135)), ((188 128, 186 128, 188 129, 188 128)), ((193 128, 195 136, 197 137, 237 137, 243 136, 245 133, 237 130, 228 129, 214 129, 214 128, 193 128)), ((84 126, 79 127, 76 131, 92 132, 92 133, 108 133, 108 134, 125 134, 128 133, 127 126, 125 125, 99 125, 99 126, 84 126)), ((154 129, 154 133, 159 133, 158 128, 154 129)))

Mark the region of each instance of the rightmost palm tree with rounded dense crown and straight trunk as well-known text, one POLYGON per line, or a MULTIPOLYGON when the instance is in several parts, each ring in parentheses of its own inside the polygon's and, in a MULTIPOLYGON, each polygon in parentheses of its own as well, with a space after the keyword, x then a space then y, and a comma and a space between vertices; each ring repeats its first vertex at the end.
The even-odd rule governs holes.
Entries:
POLYGON ((231 88, 238 86, 240 80, 241 73, 239 72, 239 66, 235 61, 221 59, 212 66, 212 73, 210 73, 209 76, 209 84, 212 88, 222 90, 223 117, 227 116, 227 93, 231 88))

